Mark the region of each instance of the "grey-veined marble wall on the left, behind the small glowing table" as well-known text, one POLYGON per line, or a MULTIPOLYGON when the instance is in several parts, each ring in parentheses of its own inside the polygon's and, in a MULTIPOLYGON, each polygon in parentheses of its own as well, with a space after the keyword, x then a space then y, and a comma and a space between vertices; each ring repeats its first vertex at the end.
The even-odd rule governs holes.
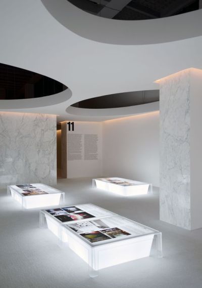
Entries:
POLYGON ((0 188, 57 183, 56 115, 0 112, 0 188))

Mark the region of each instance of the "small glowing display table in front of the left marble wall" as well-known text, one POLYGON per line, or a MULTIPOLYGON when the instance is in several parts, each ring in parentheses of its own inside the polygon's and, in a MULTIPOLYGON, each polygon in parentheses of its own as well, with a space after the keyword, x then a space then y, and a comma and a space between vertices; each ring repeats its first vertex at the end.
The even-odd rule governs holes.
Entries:
POLYGON ((24 209, 59 205, 65 200, 64 192, 40 183, 7 186, 7 194, 24 209))

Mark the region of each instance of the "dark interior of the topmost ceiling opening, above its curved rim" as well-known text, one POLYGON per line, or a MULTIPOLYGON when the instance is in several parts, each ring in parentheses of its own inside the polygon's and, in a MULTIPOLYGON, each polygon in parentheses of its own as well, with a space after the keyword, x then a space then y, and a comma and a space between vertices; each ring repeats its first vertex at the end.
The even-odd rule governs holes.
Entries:
POLYGON ((202 8, 201 0, 67 1, 93 15, 117 20, 145 20, 163 18, 202 8))

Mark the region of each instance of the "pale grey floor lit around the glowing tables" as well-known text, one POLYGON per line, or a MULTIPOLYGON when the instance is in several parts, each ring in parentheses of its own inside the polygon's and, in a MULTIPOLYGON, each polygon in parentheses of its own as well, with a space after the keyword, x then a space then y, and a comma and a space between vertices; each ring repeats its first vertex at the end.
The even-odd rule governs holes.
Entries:
MULTIPOLYGON (((186 231, 159 221, 159 196, 123 197, 91 187, 91 179, 60 179, 66 204, 94 203, 163 233, 164 258, 148 257, 100 270, 39 228, 39 209, 21 210, 0 193, 0 288, 201 288, 202 229, 186 231)), ((158 189, 155 189, 158 192, 158 189)))

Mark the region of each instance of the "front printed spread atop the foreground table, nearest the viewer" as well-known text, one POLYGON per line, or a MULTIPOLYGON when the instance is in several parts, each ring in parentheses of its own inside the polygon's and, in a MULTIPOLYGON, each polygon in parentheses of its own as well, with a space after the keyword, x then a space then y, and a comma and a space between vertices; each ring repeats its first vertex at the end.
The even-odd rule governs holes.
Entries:
POLYGON ((91 243, 120 237, 127 238, 128 235, 140 236, 154 232, 152 229, 144 227, 121 216, 112 216, 100 220, 77 222, 67 224, 66 226, 80 234, 91 243))

